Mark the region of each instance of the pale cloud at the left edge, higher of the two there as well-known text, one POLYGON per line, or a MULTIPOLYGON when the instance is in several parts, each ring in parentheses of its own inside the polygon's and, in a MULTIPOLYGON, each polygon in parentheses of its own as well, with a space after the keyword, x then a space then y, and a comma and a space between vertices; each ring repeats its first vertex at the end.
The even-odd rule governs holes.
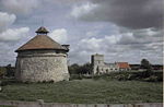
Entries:
POLYGON ((16 16, 7 12, 0 12, 0 33, 14 23, 16 16))

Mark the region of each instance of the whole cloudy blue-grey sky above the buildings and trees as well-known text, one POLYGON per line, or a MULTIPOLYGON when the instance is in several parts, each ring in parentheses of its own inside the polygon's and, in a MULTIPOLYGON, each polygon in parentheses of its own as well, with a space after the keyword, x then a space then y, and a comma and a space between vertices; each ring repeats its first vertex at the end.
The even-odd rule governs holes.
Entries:
POLYGON ((0 66, 15 64, 16 50, 45 26, 69 44, 69 64, 163 61, 162 0, 0 0, 0 66))

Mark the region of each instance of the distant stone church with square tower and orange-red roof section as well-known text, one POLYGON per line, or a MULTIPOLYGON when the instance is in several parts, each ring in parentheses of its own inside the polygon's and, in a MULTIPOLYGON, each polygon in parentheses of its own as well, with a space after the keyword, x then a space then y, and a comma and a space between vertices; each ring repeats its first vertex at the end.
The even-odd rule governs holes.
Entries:
POLYGON ((106 63, 104 62, 104 55, 92 55, 91 64, 93 69, 93 74, 103 74, 109 72, 129 71, 130 66, 128 62, 115 62, 106 63))

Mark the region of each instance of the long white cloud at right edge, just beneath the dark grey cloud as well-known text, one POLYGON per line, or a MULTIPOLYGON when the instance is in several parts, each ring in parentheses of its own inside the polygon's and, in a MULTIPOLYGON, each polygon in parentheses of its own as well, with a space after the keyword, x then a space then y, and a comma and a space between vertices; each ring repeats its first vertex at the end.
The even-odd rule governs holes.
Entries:
POLYGON ((162 41, 163 31, 154 28, 143 28, 124 33, 118 41, 119 45, 142 45, 162 41))

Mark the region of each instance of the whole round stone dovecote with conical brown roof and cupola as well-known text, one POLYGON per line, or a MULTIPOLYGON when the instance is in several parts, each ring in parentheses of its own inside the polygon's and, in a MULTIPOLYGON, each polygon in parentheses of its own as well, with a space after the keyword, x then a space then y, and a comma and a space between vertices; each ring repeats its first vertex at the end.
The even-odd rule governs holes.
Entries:
POLYGON ((67 52, 69 45, 60 45, 47 36, 45 27, 36 31, 36 36, 15 50, 19 81, 43 82, 69 80, 67 52))

